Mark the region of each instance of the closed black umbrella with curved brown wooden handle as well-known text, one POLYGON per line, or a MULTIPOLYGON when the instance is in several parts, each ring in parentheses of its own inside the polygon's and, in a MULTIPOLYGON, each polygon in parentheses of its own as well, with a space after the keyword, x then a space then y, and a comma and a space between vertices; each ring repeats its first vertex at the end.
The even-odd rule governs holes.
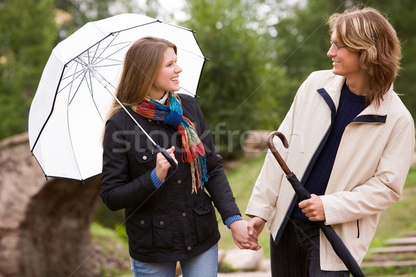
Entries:
MULTIPOLYGON (((284 160, 281 158, 279 152, 277 152, 275 144, 273 143, 273 137, 275 135, 278 136, 279 139, 281 139, 281 142, 283 143, 285 148, 288 148, 289 146, 284 134, 275 131, 270 133, 270 135, 268 136, 268 147, 270 148, 270 151, 272 152, 273 156, 275 156, 277 162, 283 169, 284 173, 286 174, 286 177, 288 178, 288 181, 291 183, 300 201, 311 198, 311 193, 309 193, 309 191, 306 190, 306 188, 304 188, 304 186, 300 183, 299 179, 297 179, 296 175, 293 172, 291 172, 284 160)), ((353 256, 345 246, 343 240, 340 239, 340 237, 332 229, 332 227, 330 225, 325 225, 323 221, 317 221, 315 223, 318 224, 318 226, 324 233, 325 237, 327 237, 329 243, 333 248, 333 251, 335 251, 338 257, 344 262, 349 273, 352 274, 352 276, 354 277, 365 277, 363 271, 361 271, 360 266, 357 264, 356 260, 353 258, 353 256)))

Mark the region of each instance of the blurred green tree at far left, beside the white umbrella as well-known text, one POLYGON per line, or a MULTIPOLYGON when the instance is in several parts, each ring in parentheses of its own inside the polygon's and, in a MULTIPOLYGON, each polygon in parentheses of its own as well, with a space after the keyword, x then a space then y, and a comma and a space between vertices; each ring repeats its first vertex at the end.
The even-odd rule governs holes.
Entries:
POLYGON ((0 139, 27 130, 28 111, 57 35, 52 0, 0 2, 0 139))

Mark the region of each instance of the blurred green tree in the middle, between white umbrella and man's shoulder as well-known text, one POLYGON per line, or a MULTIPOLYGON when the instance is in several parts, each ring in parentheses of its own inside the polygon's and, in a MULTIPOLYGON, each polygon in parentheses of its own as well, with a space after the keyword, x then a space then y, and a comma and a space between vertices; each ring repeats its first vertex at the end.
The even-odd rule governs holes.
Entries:
MULTIPOLYGON (((276 49, 264 1, 193 0, 191 19, 182 26, 196 30, 209 58, 202 71, 198 101, 218 152, 238 157, 244 132, 275 129, 286 92, 284 71, 275 67, 276 49)), ((270 10, 269 10, 270 12, 270 10)), ((178 60, 180 63, 180 60, 178 60)))

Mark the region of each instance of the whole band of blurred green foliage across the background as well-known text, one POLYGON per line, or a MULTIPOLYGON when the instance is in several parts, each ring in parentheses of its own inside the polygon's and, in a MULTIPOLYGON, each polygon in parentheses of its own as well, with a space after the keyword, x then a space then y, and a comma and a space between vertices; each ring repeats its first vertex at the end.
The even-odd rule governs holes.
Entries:
POLYGON ((196 30, 209 58, 198 100, 226 159, 241 154, 248 129, 277 129, 311 71, 331 69, 326 53, 333 12, 379 8, 403 46, 395 90, 416 113, 416 2, 413 0, 183 0, 181 12, 162 0, 1 0, 0 139, 27 130, 28 110, 52 48, 87 21, 137 12, 196 30))

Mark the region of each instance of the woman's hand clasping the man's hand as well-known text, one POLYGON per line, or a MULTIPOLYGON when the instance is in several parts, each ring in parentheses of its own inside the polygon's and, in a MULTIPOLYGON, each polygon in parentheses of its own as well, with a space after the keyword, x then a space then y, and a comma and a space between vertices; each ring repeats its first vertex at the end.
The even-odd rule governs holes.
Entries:
POLYGON ((248 234, 248 222, 245 220, 237 220, 229 224, 234 243, 239 249, 260 250, 261 245, 257 242, 257 235, 252 236, 248 234))

